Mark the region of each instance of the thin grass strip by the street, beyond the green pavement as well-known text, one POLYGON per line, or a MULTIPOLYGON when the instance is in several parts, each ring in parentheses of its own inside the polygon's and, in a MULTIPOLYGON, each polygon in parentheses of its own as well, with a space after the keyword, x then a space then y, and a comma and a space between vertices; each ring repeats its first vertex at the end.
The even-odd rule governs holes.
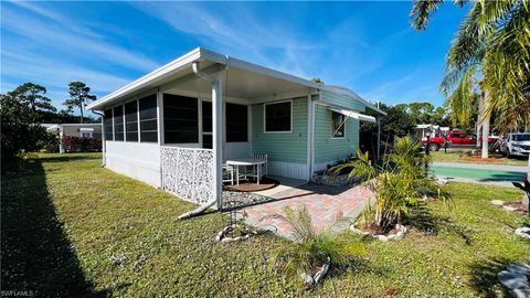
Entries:
POLYGON ((480 161, 480 157, 471 158, 471 157, 462 157, 460 153, 464 151, 456 151, 451 150, 447 153, 444 152, 444 149, 439 149, 439 151, 431 151, 431 156, 433 157, 433 161, 443 161, 443 162, 465 162, 465 163, 489 163, 489 164, 504 164, 504 166, 521 166, 528 167, 528 158, 523 157, 512 157, 506 158, 504 155, 499 153, 489 153, 489 161, 480 161))

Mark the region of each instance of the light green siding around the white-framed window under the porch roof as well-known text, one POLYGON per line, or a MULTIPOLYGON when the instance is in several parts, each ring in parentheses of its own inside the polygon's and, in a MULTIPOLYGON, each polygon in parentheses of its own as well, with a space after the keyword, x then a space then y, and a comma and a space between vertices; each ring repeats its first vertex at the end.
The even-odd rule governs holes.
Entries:
POLYGON ((307 162, 307 97, 293 99, 293 132, 264 132, 264 105, 252 106, 252 151, 272 161, 307 162))

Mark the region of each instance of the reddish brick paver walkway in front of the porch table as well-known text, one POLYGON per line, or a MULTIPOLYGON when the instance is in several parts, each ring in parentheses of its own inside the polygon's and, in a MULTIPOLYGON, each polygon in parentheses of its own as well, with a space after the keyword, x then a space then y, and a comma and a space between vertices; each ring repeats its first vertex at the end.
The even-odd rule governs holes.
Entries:
POLYGON ((275 214, 282 214, 286 205, 306 205, 317 231, 331 228, 339 233, 349 226, 373 194, 362 185, 353 188, 304 184, 275 193, 274 201, 244 207, 247 223, 259 228, 271 230, 288 237, 290 228, 275 214))

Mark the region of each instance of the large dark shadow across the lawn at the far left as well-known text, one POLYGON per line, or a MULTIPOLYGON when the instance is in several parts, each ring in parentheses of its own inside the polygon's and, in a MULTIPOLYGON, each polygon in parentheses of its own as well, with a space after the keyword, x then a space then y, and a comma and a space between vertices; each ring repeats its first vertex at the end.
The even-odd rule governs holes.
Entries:
POLYGON ((2 161, 1 285, 39 297, 98 297, 81 269, 47 191, 41 161, 2 161))

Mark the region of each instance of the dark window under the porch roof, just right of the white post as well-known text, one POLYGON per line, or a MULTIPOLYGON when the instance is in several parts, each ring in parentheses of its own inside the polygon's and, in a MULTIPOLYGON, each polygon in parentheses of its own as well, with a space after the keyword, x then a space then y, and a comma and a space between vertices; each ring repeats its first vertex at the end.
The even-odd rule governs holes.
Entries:
POLYGON ((247 141, 247 120, 248 108, 246 106, 226 104, 226 141, 247 141))

